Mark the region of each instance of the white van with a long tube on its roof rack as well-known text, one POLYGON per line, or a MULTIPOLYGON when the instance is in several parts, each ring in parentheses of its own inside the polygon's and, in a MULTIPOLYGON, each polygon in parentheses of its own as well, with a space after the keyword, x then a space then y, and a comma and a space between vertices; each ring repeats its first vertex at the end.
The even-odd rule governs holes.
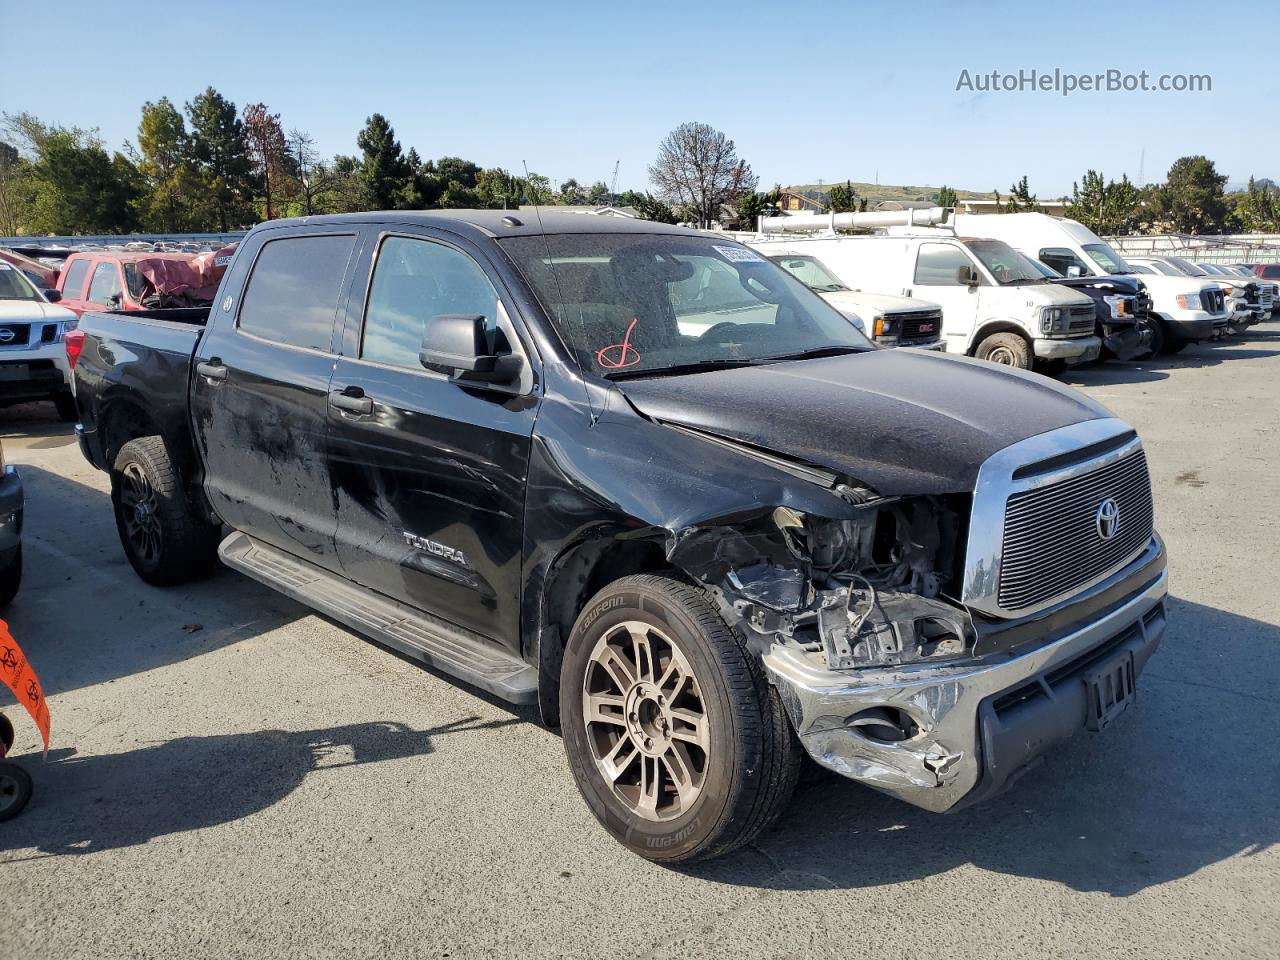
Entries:
POLYGON ((933 301, 948 353, 1029 370, 1097 360, 1093 301, 1051 284, 1000 241, 927 236, 787 237, 748 243, 809 253, 852 291, 933 301))

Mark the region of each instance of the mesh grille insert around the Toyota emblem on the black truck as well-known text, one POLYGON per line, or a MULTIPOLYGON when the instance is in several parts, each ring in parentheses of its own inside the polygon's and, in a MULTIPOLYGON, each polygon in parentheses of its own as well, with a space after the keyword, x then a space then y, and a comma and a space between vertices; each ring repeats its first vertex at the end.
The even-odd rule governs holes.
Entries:
POLYGON ((1142 449, 1097 470, 1014 493, 1005 507, 998 604, 1025 611, 1069 594, 1138 553, 1155 531, 1142 449), (1117 508, 1110 538, 1100 511, 1117 508))

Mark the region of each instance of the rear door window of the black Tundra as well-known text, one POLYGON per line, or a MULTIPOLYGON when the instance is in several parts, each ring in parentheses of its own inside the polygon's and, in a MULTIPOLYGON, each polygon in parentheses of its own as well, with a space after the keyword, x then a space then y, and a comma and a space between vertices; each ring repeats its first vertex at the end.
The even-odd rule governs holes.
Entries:
POLYGON ((268 241, 241 302, 239 328, 291 347, 329 351, 355 236, 268 241))

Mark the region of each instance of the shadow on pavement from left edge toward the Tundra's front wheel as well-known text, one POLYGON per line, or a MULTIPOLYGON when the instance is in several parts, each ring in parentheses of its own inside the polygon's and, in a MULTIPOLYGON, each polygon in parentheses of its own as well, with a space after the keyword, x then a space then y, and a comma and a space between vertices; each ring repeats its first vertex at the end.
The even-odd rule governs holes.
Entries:
POLYGON ((20 762, 32 772, 36 792, 31 806, 4 824, 0 851, 92 854, 215 827, 265 810, 314 771, 324 776, 335 767, 425 756, 447 733, 522 722, 467 717, 430 730, 353 723, 178 737, 83 759, 73 750, 54 751, 50 758, 58 759, 47 764, 31 755, 20 762))

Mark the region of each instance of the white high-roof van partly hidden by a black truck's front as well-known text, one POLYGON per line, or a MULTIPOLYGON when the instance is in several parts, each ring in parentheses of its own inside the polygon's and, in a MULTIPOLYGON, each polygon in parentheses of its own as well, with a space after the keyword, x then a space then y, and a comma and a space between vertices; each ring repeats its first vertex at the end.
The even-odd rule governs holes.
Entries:
POLYGON ((1207 340, 1226 329, 1230 314, 1216 283, 1189 276, 1135 271, 1115 248, 1082 223, 1048 214, 956 214, 955 229, 1001 239, 1041 260, 1065 276, 1108 276, 1142 273, 1152 300, 1155 352, 1175 353, 1193 340, 1207 340))

